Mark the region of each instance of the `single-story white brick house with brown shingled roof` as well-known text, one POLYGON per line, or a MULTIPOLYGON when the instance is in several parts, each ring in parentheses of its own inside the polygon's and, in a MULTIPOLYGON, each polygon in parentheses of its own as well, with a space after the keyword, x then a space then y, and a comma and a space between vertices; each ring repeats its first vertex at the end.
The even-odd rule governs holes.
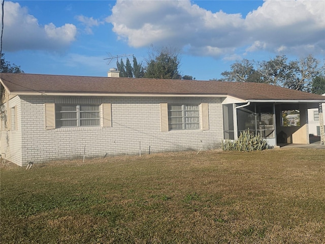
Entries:
POLYGON ((261 83, 2 73, 3 157, 28 162, 220 147, 241 131, 309 143, 325 97, 261 83), (300 126, 282 127, 285 110, 300 126))

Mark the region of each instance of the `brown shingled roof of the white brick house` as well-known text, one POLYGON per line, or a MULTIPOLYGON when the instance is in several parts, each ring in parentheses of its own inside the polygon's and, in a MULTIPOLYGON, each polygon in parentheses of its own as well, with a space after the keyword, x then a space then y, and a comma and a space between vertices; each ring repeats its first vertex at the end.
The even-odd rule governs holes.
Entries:
POLYGON ((112 78, 68 75, 1 73, 9 94, 107 94, 143 96, 231 96, 241 100, 310 100, 325 102, 321 95, 252 82, 173 79, 112 78))

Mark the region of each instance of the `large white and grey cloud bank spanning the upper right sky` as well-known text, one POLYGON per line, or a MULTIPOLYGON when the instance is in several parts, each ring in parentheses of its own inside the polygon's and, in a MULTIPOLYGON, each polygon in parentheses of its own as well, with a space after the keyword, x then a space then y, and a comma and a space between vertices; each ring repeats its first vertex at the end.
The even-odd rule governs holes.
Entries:
POLYGON ((302 55, 325 52, 324 9, 324 1, 266 0, 243 17, 212 13, 190 1, 118 0, 106 21, 132 47, 173 45, 214 57, 239 49, 302 55))

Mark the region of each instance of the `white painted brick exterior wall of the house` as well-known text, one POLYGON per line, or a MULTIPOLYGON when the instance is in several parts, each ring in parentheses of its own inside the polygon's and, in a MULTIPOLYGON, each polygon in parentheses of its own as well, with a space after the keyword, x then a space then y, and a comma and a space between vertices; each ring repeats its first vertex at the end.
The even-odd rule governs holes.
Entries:
MULTIPOLYGON (((9 135, 8 159, 20 166, 57 159, 136 155, 162 151, 220 147, 223 137, 220 98, 53 97, 20 96, 17 136, 9 135), (161 132, 160 103, 208 103, 209 130, 161 132), (45 130, 45 103, 103 104, 112 106, 112 127, 75 127, 45 130), (10 155, 10 156, 9 156, 10 155)), ((202 111, 200 111, 202 113, 202 111)), ((202 125, 201 125, 202 126, 202 125)), ((5 150, 2 131, 1 151, 5 150)))

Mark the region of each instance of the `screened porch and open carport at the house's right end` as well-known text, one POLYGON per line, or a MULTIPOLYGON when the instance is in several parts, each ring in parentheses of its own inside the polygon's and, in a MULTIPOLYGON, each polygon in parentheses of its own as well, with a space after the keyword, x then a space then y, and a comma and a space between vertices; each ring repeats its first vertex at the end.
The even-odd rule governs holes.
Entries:
POLYGON ((260 134, 269 145, 309 144, 307 109, 315 103, 232 103, 222 105, 223 139, 242 131, 260 134))

